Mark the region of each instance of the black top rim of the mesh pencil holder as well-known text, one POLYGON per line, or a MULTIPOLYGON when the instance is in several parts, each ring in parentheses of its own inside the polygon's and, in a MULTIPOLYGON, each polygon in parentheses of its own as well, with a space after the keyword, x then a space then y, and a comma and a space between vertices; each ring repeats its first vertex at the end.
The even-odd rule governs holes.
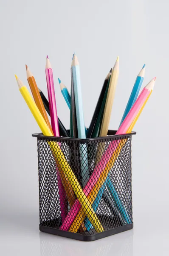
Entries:
POLYGON ((48 139, 48 140, 69 140, 69 141, 77 141, 77 142, 90 142, 90 141, 98 141, 98 140, 108 140, 108 139, 116 139, 116 138, 126 138, 126 137, 131 137, 132 135, 135 135, 136 132, 132 131, 131 133, 128 134, 115 134, 117 130, 109 130, 108 135, 104 137, 96 137, 96 138, 86 138, 86 139, 79 139, 79 138, 70 138, 70 137, 55 137, 55 136, 44 136, 42 133, 34 133, 32 134, 32 137, 37 137, 41 139, 48 139), (113 133, 113 135, 112 135, 113 133), (109 135, 111 134, 111 135, 109 135))

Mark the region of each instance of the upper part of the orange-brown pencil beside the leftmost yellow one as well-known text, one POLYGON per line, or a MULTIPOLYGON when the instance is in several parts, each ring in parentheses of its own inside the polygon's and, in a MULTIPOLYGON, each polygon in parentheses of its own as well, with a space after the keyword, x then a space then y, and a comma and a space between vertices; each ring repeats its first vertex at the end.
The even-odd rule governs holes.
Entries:
POLYGON ((41 99, 41 96, 39 94, 39 90, 38 90, 35 78, 34 78, 33 74, 31 73, 30 69, 28 68, 28 66, 27 65, 25 65, 25 66, 26 66, 26 75, 27 75, 28 84, 31 89, 32 95, 34 97, 34 101, 37 104, 37 107, 39 108, 39 111, 42 114, 43 118, 45 119, 45 122, 47 123, 48 127, 50 128, 51 132, 53 133, 51 124, 49 122, 47 113, 45 111, 45 108, 44 108, 44 105, 43 105, 43 102, 41 99))

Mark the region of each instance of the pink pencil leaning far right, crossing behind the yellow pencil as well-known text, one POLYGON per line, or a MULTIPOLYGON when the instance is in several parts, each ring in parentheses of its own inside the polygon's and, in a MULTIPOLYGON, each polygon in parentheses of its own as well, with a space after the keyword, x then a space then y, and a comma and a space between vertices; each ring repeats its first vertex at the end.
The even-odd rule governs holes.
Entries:
MULTIPOLYGON (((132 106, 131 110, 129 111, 128 115, 124 119, 123 123, 121 124, 120 128, 116 132, 117 135, 125 134, 134 121, 135 117, 137 116, 137 113, 139 112, 140 108, 144 104, 145 100, 149 96, 149 93, 153 90, 154 83, 155 83, 155 77, 144 87, 141 94, 138 96, 138 99, 135 101, 134 105, 132 106)), ((91 189, 93 189, 93 186, 96 184, 96 182, 99 179, 99 176, 101 175, 101 172, 105 169, 108 161, 110 161, 110 158, 115 152, 118 143, 118 141, 112 141, 110 142, 107 150, 101 157, 100 162, 95 167, 93 174, 90 176, 89 181, 87 182, 85 188, 83 189, 86 196, 89 195, 91 189), (102 166, 102 169, 100 169, 100 166, 102 166)), ((77 213, 79 212, 79 209, 81 208, 81 204, 78 200, 75 201, 73 206, 71 207, 70 211, 68 212, 68 215, 65 218, 65 221, 63 222, 62 226, 60 227, 61 230, 68 231, 71 224, 73 223, 74 219, 76 218, 77 213)))

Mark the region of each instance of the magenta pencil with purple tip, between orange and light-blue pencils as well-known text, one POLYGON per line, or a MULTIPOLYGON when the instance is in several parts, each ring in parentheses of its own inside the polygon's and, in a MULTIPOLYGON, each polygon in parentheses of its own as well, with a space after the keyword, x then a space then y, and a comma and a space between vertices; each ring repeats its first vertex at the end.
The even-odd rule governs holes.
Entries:
MULTIPOLYGON (((51 63, 49 61, 48 55, 46 57, 45 72, 46 72, 46 82, 48 87, 49 110, 51 113, 51 126, 54 132, 54 136, 59 137, 60 135, 59 135, 59 125, 58 125, 58 117, 57 117, 57 109, 56 109, 54 78, 53 78, 53 72, 52 72, 51 63)), ((62 217, 62 221, 64 221, 67 214, 66 193, 65 193, 65 189, 62 184, 62 180, 61 180, 57 166, 56 166, 56 172, 57 172, 57 183, 58 183, 58 189, 59 189, 61 217, 62 217)))

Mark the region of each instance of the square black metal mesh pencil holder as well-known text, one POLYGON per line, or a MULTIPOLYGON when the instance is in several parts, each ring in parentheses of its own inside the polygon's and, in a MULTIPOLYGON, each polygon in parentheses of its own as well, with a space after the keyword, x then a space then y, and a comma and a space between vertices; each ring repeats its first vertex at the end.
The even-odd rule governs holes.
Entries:
POLYGON ((37 137, 39 230, 93 241, 130 230, 131 134, 37 137))

